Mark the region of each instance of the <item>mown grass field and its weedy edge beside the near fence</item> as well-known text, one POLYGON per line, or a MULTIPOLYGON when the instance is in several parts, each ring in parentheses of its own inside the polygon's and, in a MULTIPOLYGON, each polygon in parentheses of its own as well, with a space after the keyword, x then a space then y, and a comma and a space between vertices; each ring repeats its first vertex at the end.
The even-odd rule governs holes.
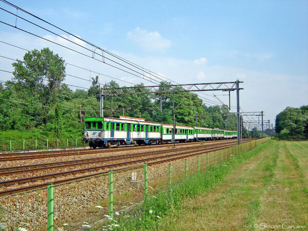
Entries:
POLYGON ((269 141, 197 178, 159 195, 121 229, 308 229, 306 141, 269 141))

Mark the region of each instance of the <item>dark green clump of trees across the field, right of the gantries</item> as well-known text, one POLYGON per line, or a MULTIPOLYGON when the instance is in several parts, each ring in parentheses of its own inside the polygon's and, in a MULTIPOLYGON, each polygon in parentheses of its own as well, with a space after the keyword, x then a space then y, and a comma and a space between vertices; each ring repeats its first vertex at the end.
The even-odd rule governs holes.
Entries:
POLYGON ((276 116, 276 132, 280 139, 308 138, 308 106, 287 107, 276 116))

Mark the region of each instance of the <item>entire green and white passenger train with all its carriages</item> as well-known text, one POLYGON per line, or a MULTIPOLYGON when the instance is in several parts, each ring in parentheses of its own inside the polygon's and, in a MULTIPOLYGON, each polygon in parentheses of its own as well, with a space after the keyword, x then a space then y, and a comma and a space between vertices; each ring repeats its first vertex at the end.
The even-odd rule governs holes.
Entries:
POLYGON ((92 148, 126 144, 165 144, 237 138, 237 131, 219 128, 189 127, 151 122, 142 118, 89 117, 85 119, 83 140, 92 148))

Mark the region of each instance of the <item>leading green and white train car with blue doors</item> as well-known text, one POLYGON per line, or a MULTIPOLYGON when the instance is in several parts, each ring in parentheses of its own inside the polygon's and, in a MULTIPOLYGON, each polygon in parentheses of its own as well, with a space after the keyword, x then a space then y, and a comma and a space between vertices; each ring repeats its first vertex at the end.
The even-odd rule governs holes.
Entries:
POLYGON ((85 119, 84 141, 89 146, 109 147, 120 144, 157 144, 161 140, 161 126, 145 119, 131 117, 85 119))

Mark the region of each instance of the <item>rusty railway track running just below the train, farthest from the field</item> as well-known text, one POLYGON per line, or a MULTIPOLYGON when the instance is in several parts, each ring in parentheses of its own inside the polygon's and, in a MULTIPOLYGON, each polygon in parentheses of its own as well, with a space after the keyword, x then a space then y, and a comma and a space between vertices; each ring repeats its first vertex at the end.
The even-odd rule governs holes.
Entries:
MULTIPOLYGON (((254 139, 246 139, 244 141, 251 141, 254 139)), ((227 142, 230 140, 222 141, 207 141, 206 144, 227 142)), ((234 141, 234 140, 233 140, 234 141)), ((198 143, 176 143, 176 146, 187 146, 196 145, 198 143)), ((130 147, 120 147, 120 148, 108 148, 108 149, 74 149, 74 150, 57 150, 57 151, 39 151, 39 152, 18 152, 18 153, 2 153, 0 154, 0 162, 4 161, 15 161, 15 160, 29 160, 29 159, 42 159, 42 158, 53 158, 53 157, 65 157, 65 156, 79 156, 79 155, 89 155, 97 153, 108 153, 114 151, 127 151, 127 150, 139 150, 139 149, 149 149, 149 148, 160 148, 160 147, 172 147, 174 144, 159 144, 159 145, 146 145, 146 146, 130 146, 130 147)))

